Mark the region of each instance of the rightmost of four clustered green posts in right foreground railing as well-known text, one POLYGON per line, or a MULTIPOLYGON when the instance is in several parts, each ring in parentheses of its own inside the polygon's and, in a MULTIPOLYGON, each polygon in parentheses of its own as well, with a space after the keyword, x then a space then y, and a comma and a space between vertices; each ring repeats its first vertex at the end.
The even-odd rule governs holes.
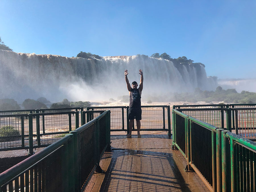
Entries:
MULTIPOLYGON (((237 162, 236 162, 236 149, 235 149, 235 142, 233 139, 230 139, 230 167, 231 167, 231 191, 237 191, 237 162)), ((248 170, 249 171, 249 170, 248 170)))

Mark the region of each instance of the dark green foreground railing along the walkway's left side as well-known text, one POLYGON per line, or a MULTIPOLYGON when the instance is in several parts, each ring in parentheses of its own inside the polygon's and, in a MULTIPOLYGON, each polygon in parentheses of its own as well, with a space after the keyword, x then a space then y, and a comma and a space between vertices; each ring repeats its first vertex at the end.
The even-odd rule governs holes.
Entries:
POLYGON ((0 174, 0 191, 84 191, 110 149, 110 112, 0 174))

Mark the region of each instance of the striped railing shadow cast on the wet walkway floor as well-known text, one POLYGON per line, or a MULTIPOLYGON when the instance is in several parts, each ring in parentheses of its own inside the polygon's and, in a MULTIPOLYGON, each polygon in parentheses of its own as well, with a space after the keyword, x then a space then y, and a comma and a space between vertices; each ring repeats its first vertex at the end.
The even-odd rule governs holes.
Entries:
POLYGON ((105 172, 105 178, 102 182, 100 191, 130 191, 136 188, 138 191, 190 191, 177 168, 172 154, 148 150, 126 149, 119 150, 118 152, 117 150, 114 150, 110 166, 105 172), (130 167, 130 170, 129 168, 128 170, 121 170, 120 166, 122 166, 123 161, 121 163, 120 160, 118 160, 120 158, 129 159, 128 161, 130 162, 125 161, 125 163, 127 163, 127 167, 130 167), (137 165, 130 165, 133 161, 141 158, 144 159, 144 168, 135 167, 137 165), (148 160, 145 160, 147 158, 148 160), (162 166, 157 166, 161 164, 162 166), (146 169, 150 167, 154 171, 146 169), (164 169, 167 168, 169 168, 169 173, 166 174, 164 169), (114 189, 113 186, 116 186, 116 189, 114 189))

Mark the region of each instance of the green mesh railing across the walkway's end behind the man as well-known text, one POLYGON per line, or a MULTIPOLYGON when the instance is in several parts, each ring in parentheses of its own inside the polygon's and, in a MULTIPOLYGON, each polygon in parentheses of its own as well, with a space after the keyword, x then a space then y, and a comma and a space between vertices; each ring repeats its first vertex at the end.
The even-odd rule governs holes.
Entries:
MULTIPOLYGON (((88 107, 88 110, 110 110, 110 131, 128 131, 129 106, 103 106, 103 107, 88 107), (126 129, 125 129, 126 125, 126 129)), ((142 119, 141 119, 141 131, 168 131, 168 135, 171 136, 171 118, 170 118, 170 106, 141 106, 142 119)), ((133 126, 133 130, 136 129, 136 124, 133 126)), ((129 132, 129 131, 128 131, 129 132)))

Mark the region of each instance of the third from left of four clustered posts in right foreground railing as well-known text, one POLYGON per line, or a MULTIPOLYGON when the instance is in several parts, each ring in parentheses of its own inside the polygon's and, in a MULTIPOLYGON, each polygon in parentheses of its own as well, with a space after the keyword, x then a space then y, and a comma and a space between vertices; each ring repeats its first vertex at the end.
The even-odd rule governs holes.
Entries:
POLYGON ((222 145, 222 191, 231 191, 231 170, 230 170, 230 144, 226 133, 227 130, 221 131, 222 145))

